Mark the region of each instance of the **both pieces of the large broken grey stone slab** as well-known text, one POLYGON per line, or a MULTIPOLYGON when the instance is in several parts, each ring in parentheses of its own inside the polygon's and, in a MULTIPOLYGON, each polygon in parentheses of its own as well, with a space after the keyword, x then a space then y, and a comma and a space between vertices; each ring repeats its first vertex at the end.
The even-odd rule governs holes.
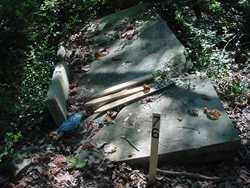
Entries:
MULTIPOLYGON (((184 46, 159 16, 147 11, 147 6, 140 4, 92 24, 89 38, 93 48, 105 54, 96 55, 80 81, 81 89, 89 91, 84 92, 85 97, 98 96, 106 88, 157 72, 178 77, 190 67, 184 46)), ((152 113, 162 114, 160 161, 207 162, 232 157, 239 137, 212 84, 197 76, 179 80, 175 87, 125 106, 112 125, 93 137, 97 145, 116 146, 107 158, 148 159, 152 113), (211 112, 218 112, 219 117, 208 118, 211 112)))

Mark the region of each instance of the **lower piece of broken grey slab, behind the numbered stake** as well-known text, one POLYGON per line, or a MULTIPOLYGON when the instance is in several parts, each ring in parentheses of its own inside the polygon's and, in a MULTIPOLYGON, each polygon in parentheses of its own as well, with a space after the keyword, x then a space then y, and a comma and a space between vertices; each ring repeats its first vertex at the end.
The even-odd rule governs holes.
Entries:
POLYGON ((165 161, 225 159, 239 145, 237 131, 212 84, 196 76, 185 77, 158 95, 124 107, 114 124, 95 135, 94 142, 97 145, 114 144, 116 152, 107 156, 114 161, 147 159, 152 113, 161 113, 159 156, 165 161), (203 112, 204 107, 217 109, 221 116, 218 120, 210 120, 203 112), (121 139, 122 136, 139 151, 121 139))

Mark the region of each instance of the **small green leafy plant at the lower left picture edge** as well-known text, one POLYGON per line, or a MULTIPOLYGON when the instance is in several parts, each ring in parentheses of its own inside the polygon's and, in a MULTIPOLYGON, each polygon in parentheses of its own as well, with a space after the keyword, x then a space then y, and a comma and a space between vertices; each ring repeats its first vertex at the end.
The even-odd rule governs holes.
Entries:
POLYGON ((3 159, 12 157, 15 153, 14 146, 20 141, 22 135, 20 132, 13 133, 7 132, 4 136, 4 146, 0 150, 0 163, 3 162, 3 159))

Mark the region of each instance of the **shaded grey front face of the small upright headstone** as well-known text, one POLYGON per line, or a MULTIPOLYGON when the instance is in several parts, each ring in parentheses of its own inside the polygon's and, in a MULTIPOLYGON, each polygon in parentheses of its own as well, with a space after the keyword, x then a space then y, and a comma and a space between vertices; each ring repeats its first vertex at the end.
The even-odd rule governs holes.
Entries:
POLYGON ((52 79, 47 94, 46 105, 58 126, 67 119, 66 100, 59 79, 52 79))

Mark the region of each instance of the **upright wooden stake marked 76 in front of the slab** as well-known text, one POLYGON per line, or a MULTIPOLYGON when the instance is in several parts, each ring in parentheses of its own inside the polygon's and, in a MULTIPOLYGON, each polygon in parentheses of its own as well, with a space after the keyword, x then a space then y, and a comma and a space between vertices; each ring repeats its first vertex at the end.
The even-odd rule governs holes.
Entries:
POLYGON ((156 176, 158 166, 158 145, 160 136, 160 114, 153 113, 152 132, 151 132, 151 152, 149 160, 149 179, 153 180, 156 176))

